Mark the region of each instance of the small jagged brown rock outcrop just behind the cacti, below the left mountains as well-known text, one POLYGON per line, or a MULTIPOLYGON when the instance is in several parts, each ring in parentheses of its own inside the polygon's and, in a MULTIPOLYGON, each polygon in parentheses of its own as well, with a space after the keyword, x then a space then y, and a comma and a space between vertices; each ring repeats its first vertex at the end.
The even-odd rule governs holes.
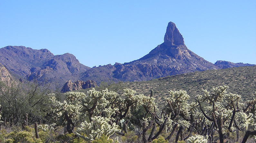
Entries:
POLYGON ((87 80, 86 82, 77 80, 74 83, 71 82, 71 80, 68 80, 64 86, 62 87, 62 92, 67 92, 67 91, 73 91, 73 90, 81 90, 81 89, 86 89, 90 87, 96 87, 97 84, 94 81, 87 80))

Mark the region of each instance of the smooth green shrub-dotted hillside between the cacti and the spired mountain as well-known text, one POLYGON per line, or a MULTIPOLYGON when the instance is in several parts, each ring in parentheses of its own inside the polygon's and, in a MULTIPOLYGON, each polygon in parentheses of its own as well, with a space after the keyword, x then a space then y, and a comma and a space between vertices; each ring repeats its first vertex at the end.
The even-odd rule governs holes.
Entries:
POLYGON ((253 97, 253 93, 256 92, 256 66, 196 71, 149 81, 116 83, 98 87, 97 90, 110 88, 123 93, 122 89, 129 88, 148 96, 150 91, 154 90, 155 102, 161 104, 170 90, 185 90, 191 96, 190 102, 194 102, 196 95, 204 94, 203 89, 210 91, 213 87, 223 85, 229 86, 228 93, 241 95, 242 100, 256 98, 253 97))

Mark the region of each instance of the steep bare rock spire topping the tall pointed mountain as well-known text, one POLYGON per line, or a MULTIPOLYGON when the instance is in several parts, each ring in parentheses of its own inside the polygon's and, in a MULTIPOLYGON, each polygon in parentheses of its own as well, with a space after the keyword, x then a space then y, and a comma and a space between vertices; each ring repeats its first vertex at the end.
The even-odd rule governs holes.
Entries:
POLYGON ((178 28, 173 22, 168 23, 164 38, 164 44, 166 44, 167 46, 184 45, 183 36, 180 34, 178 28))

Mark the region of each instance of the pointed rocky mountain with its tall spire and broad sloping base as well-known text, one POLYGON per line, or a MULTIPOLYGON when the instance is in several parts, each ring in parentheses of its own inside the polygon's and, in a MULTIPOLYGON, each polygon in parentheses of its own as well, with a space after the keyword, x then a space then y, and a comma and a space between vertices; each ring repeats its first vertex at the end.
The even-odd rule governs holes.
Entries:
POLYGON ((164 43, 158 45, 144 57, 129 63, 91 68, 82 74, 81 79, 84 81, 93 79, 96 82, 109 79, 113 81, 145 81, 167 75, 219 68, 190 51, 184 44, 183 36, 175 23, 169 22, 164 43))

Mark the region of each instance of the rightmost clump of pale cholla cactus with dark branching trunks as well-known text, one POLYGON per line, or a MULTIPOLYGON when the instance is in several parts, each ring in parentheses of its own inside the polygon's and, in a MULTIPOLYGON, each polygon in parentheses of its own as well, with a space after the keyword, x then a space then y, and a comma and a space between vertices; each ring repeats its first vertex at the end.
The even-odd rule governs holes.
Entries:
MULTIPOLYGON (((196 99, 205 119, 212 123, 211 127, 205 126, 208 128, 210 141, 213 141, 214 128, 218 129, 220 143, 223 143, 230 132, 236 131, 238 140, 239 131, 247 131, 248 126, 254 126, 255 123, 253 117, 255 113, 250 113, 252 110, 249 109, 255 106, 256 100, 250 101, 247 107, 244 108, 245 105, 240 103, 241 96, 233 93, 227 94, 227 88, 227 86, 219 86, 213 88, 211 93, 204 90, 204 95, 198 95, 196 99), (208 106, 202 107, 203 103, 208 106)), ((244 139, 243 142, 246 140, 244 139)))

